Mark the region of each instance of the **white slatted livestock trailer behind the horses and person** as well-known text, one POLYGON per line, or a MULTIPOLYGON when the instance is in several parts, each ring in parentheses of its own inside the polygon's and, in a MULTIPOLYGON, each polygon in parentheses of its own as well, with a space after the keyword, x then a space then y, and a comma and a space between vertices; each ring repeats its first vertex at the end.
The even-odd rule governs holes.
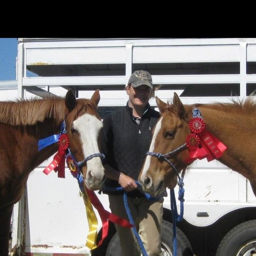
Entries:
MULTIPOLYGON (((256 90, 256 38, 18 39, 19 97, 65 95, 71 88, 77 97, 90 98, 100 89, 99 113, 104 117, 126 103, 125 84, 139 69, 152 74, 159 87, 155 95, 164 101, 174 91, 183 103, 242 99, 256 90)), ((154 98, 150 103, 156 106, 154 98)), ((14 207, 12 246, 26 256, 118 255, 113 225, 102 246, 93 251, 85 246, 88 221, 78 184, 68 170, 66 179, 54 173, 46 176, 46 165, 30 174, 26 193, 14 207)), ((179 248, 190 244, 198 256, 216 255, 217 250, 223 255, 229 248, 238 248, 236 255, 256 251, 256 199, 243 176, 217 161, 197 160, 184 184, 179 248), (241 232, 245 228, 246 234, 241 232)), ((108 198, 97 196, 109 209, 108 198)), ((172 255, 169 196, 163 217, 162 248, 165 255, 172 255)))

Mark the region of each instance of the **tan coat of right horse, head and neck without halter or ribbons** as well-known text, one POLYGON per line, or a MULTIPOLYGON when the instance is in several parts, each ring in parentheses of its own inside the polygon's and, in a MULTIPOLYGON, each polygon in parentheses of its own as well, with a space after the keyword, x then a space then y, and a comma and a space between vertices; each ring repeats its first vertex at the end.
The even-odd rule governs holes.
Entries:
MULTIPOLYGON (((183 105, 174 94, 173 104, 156 97, 161 118, 154 129, 150 152, 166 154, 186 143, 191 133, 189 121, 193 109, 201 112, 205 130, 217 137, 227 149, 217 160, 246 177, 256 195, 256 103, 253 97, 232 103, 183 105)), ((189 149, 183 147, 167 158, 178 172, 190 163, 189 149)), ((154 156, 146 156, 140 173, 140 182, 146 193, 157 196, 165 187, 174 188, 177 175, 172 166, 154 156)))

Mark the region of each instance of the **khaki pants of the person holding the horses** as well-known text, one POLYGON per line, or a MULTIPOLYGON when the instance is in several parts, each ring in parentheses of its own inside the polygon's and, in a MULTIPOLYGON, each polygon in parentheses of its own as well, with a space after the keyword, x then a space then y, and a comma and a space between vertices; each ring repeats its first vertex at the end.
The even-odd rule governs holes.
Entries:
MULTIPOLYGON (((143 246, 148 256, 161 255, 161 223, 163 216, 163 199, 152 202, 146 197, 127 197, 133 221, 137 227, 143 246)), ((109 195, 113 214, 129 221, 122 195, 109 195)), ((132 228, 115 224, 120 239, 123 256, 140 256, 141 250, 132 228)), ((119 256, 119 255, 118 255, 119 256)))

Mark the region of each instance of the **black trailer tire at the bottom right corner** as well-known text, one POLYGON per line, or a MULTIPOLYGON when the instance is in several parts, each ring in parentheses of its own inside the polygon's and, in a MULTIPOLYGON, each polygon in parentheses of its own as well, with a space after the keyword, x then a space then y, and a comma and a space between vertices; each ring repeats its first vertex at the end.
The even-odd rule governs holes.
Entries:
POLYGON ((216 256, 242 256, 256 253, 256 221, 244 222, 231 229, 222 239, 216 256))

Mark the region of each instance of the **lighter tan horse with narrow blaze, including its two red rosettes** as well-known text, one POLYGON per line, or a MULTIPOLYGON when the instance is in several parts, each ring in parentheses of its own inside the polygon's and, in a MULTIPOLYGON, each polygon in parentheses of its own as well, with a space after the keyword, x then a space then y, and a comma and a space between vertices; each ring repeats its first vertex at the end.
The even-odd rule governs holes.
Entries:
POLYGON ((139 181, 152 196, 173 189, 179 173, 196 159, 216 159, 246 177, 256 196, 256 101, 183 104, 174 93, 173 104, 156 96, 161 114, 153 130, 139 181))

